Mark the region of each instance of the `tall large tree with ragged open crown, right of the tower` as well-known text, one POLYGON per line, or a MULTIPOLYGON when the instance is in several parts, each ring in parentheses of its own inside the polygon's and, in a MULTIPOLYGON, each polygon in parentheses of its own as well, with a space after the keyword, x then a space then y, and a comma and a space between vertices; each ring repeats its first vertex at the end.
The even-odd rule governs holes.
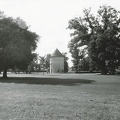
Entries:
POLYGON ((120 16, 119 11, 110 6, 101 6, 96 17, 91 9, 85 9, 84 17, 69 21, 68 28, 74 29, 69 42, 78 47, 88 48, 90 62, 95 63, 102 74, 108 69, 114 71, 120 65, 120 16))

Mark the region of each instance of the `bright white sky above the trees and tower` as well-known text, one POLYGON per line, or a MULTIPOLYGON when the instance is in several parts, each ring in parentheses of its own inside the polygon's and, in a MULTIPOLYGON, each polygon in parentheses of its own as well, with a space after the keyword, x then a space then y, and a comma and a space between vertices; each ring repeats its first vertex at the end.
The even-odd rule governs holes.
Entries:
POLYGON ((40 56, 52 54, 56 48, 66 52, 72 66, 67 29, 69 20, 83 15, 83 9, 91 7, 93 14, 99 6, 109 5, 120 10, 119 0, 0 0, 0 10, 5 15, 23 19, 30 30, 40 36, 36 52, 40 56))

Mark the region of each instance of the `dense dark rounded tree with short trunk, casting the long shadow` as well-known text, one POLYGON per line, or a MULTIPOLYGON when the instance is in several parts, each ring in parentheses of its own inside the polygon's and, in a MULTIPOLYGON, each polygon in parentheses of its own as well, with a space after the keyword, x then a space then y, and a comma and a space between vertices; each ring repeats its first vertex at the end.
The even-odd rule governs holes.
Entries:
POLYGON ((32 61, 33 51, 37 47, 39 36, 21 28, 17 19, 11 17, 0 18, 0 67, 3 77, 7 77, 7 70, 20 63, 26 64, 32 61), (31 58, 31 59, 29 59, 31 58), (29 60, 28 60, 29 59, 29 60))

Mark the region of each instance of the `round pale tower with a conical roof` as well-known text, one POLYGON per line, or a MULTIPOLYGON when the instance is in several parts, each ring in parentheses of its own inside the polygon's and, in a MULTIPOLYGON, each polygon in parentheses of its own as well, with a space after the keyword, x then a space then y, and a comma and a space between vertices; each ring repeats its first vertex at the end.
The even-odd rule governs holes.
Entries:
POLYGON ((64 56, 56 49, 50 58, 50 73, 64 72, 64 56))

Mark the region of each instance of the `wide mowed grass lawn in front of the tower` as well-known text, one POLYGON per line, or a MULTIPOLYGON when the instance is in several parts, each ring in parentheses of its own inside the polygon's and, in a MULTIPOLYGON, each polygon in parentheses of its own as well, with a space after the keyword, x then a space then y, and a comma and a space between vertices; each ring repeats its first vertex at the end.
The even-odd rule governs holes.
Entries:
POLYGON ((120 120, 120 76, 9 74, 0 120, 120 120))

